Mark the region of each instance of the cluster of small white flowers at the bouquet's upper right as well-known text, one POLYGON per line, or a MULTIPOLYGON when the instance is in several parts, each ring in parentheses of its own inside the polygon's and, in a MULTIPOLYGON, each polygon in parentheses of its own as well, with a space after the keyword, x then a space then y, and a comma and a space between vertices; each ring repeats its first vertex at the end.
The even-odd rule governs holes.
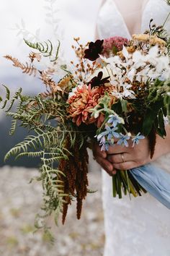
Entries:
POLYGON ((112 95, 117 98, 135 98, 135 93, 125 82, 127 78, 130 85, 134 81, 146 84, 148 80, 153 82, 157 78, 163 81, 170 78, 169 56, 160 51, 158 46, 152 46, 148 51, 135 51, 133 54, 129 54, 127 48, 123 47, 122 55, 125 59, 120 56, 102 57, 107 64, 110 83, 116 87, 112 95))

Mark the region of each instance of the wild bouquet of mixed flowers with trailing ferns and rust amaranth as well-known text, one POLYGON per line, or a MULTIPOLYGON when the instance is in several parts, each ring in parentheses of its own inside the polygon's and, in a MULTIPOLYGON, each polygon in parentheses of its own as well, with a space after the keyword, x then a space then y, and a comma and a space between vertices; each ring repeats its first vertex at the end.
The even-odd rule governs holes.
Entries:
MULTIPOLYGON (((170 40, 164 27, 150 25, 150 30, 133 35, 132 40, 114 37, 72 46, 77 61, 71 67, 60 64, 58 46, 30 43, 29 62, 22 64, 5 56, 14 67, 35 75, 45 85, 45 92, 35 96, 22 95, 22 89, 11 97, 6 88, 2 108, 11 116, 14 134, 17 123, 31 135, 9 150, 7 160, 27 155, 41 161, 44 214, 54 213, 58 221, 62 213, 66 220, 68 205, 77 202, 77 218, 81 217, 82 202, 91 190, 88 187, 88 153, 94 140, 101 150, 115 143, 133 147, 148 136, 153 157, 156 134, 166 136, 165 121, 170 114, 170 40), (49 59, 49 67, 37 66, 49 59), (17 109, 11 111, 14 103, 17 109)), ((112 177, 113 196, 141 195, 146 190, 130 171, 117 171, 112 177)), ((37 222, 38 227, 45 222, 37 222)))

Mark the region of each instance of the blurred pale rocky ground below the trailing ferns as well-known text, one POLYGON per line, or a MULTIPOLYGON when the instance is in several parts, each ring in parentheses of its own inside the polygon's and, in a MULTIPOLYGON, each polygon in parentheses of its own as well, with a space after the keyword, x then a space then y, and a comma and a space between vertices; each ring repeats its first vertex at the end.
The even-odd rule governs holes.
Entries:
POLYGON ((75 205, 69 209, 66 224, 56 227, 53 246, 49 236, 33 233, 35 214, 40 208, 41 186, 29 184, 37 170, 5 166, 0 169, 0 255, 1 256, 102 256, 104 227, 101 202, 101 174, 89 173, 91 189, 84 202, 81 220, 75 205))

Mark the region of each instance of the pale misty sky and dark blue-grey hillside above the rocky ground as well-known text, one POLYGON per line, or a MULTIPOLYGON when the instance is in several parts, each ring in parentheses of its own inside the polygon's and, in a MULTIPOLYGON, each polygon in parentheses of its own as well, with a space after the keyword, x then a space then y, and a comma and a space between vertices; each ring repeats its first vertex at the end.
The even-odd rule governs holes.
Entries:
MULTIPOLYGON (((29 77, 12 63, 3 58, 12 55, 21 61, 27 60, 30 49, 24 44, 23 38, 31 41, 61 40, 63 54, 66 59, 73 59, 71 48, 73 37, 80 37, 82 43, 94 39, 95 22, 100 0, 1 0, 0 31, 1 31, 1 69, 0 84, 7 85, 10 90, 22 87, 25 93, 40 93, 44 86, 39 80, 29 77)), ((0 87, 0 95, 3 93, 0 87)), ((0 113, 0 166, 4 165, 5 153, 27 135, 19 128, 17 133, 9 137, 11 119, 0 113)), ((9 160, 9 165, 35 166, 35 162, 20 159, 9 160)))

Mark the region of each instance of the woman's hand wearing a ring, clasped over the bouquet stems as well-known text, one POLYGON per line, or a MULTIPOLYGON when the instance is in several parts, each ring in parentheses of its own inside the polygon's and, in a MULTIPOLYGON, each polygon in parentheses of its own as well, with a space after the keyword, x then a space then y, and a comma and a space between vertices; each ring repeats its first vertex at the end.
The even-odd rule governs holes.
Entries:
POLYGON ((107 160, 115 169, 128 170, 151 162, 148 138, 140 140, 134 147, 132 140, 128 140, 128 143, 127 148, 117 144, 109 147, 107 160))

